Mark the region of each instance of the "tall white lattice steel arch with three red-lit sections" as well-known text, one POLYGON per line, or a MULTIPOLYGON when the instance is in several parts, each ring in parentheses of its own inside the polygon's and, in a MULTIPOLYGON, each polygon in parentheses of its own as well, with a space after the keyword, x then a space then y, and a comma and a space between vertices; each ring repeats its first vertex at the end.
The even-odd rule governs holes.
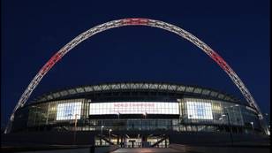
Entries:
POLYGON ((185 31, 184 29, 171 25, 169 23, 162 22, 160 20, 155 19, 117 19, 112 20, 110 22, 103 23, 102 25, 92 27, 88 29, 86 32, 79 34, 76 38, 74 38, 71 42, 68 42, 61 50, 58 50, 57 53, 49 59, 49 61, 42 66, 42 69, 37 73, 34 77, 34 79, 30 82, 28 87, 26 88, 25 92, 22 94, 22 96, 19 99, 19 102, 15 106, 15 108, 12 111, 11 118, 9 120, 9 123, 4 131, 4 133, 9 132, 9 128, 11 127, 11 122, 14 119, 14 113, 22 107, 28 97, 32 94, 34 91, 34 88, 40 83, 42 80, 42 77, 49 72, 49 70, 57 63, 58 60, 60 60, 66 53, 68 53, 70 50, 72 50, 75 46, 77 46, 80 42, 85 41, 87 38, 93 36, 94 34, 101 33, 102 31, 108 30, 110 28, 114 27, 124 27, 124 26, 148 26, 148 27, 158 27, 162 28, 164 30, 170 31, 171 33, 175 33, 180 35, 181 37, 185 38, 186 40, 193 42, 197 47, 199 47, 202 51, 204 51, 209 57, 214 59, 214 61, 219 65, 225 73, 227 73, 230 76, 230 79, 233 81, 233 83, 239 88, 242 95, 245 96, 246 101, 254 107, 258 113, 259 118, 263 119, 263 116, 261 114, 261 110, 257 103, 255 103, 253 96, 246 88, 245 84, 240 80, 238 75, 231 69, 230 65, 228 65, 222 57, 220 57, 215 50, 212 50, 206 43, 200 41, 197 37, 195 37, 193 34, 190 34, 189 32, 185 31))

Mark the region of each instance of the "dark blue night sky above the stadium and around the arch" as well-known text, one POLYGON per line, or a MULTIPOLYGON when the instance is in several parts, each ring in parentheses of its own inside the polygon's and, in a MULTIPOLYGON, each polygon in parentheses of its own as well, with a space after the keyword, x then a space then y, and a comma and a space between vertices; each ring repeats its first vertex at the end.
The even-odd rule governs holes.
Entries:
MULTIPOLYGON (((112 19, 159 19, 191 32, 238 73, 263 112, 270 105, 269 1, 2 2, 1 125, 34 75, 72 38, 112 19)), ((242 97, 227 74, 195 47, 162 29, 120 27, 95 34, 45 76, 33 96, 111 81, 200 85, 242 97)))

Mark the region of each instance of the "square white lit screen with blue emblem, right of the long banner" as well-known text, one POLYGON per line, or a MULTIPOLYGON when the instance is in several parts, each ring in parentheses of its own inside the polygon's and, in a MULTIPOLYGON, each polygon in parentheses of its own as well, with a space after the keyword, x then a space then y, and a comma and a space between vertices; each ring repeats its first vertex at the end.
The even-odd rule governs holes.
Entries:
POLYGON ((188 119, 213 119, 211 103, 186 102, 188 119))

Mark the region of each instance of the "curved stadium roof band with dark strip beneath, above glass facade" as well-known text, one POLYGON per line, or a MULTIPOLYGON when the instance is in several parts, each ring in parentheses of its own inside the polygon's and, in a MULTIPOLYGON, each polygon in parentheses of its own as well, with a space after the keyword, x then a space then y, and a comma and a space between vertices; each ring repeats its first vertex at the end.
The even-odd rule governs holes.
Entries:
POLYGON ((79 86, 76 88, 65 88, 55 92, 49 92, 35 98, 30 103, 43 103, 48 101, 62 100, 72 97, 91 96, 98 93, 107 92, 157 92, 168 93, 185 96, 200 96, 212 98, 215 100, 229 101, 232 103, 240 103, 248 105, 235 96, 231 96, 222 91, 211 88, 202 88, 199 86, 187 86, 174 83, 156 83, 156 82, 119 82, 119 83, 103 83, 96 85, 79 86))

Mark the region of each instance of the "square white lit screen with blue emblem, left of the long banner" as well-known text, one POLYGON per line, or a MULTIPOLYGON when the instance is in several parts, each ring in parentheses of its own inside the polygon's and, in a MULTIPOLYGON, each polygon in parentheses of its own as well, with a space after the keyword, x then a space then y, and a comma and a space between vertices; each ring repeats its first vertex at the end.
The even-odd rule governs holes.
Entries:
POLYGON ((80 119, 81 103, 57 104, 57 120, 80 119), (77 114, 77 115, 76 115, 77 114))

